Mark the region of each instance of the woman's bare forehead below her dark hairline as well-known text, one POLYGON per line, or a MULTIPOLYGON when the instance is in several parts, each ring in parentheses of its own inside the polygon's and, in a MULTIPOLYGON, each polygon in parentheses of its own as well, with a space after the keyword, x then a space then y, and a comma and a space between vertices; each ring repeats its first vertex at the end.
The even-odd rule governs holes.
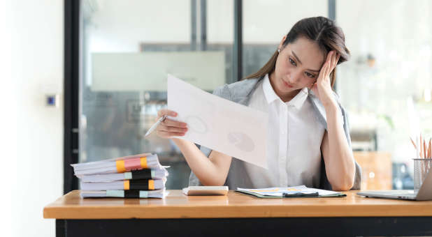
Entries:
POLYGON ((315 41, 299 37, 293 43, 288 44, 287 47, 289 53, 295 54, 305 68, 321 69, 325 56, 323 50, 315 41))

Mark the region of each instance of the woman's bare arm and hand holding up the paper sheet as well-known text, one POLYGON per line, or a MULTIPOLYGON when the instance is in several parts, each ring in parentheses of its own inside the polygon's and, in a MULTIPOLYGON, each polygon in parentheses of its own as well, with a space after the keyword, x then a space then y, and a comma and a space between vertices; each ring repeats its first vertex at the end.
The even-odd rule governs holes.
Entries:
MULTIPOLYGON (((177 116, 168 109, 161 109, 158 112, 159 118, 164 115, 177 116)), ((180 148, 187 165, 192 169, 196 177, 203 185, 220 186, 224 185, 231 165, 231 156, 212 151, 207 158, 194 143, 173 136, 183 136, 187 132, 187 124, 171 119, 165 119, 157 127, 157 135, 163 138, 171 138, 180 148)))

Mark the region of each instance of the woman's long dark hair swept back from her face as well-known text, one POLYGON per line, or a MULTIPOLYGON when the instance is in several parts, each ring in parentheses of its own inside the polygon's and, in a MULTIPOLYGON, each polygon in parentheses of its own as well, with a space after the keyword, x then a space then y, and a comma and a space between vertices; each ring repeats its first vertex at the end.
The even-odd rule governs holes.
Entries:
MULTIPOLYGON (((298 37, 303 36, 309 40, 315 41, 319 48, 323 50, 325 55, 331 50, 335 50, 336 53, 340 54, 339 63, 343 63, 350 59, 350 50, 345 46, 345 35, 339 26, 333 20, 326 17, 310 17, 299 20, 287 34, 287 38, 282 43, 282 48, 287 46, 289 43, 294 43, 298 37)), ((281 49, 282 50, 282 49, 281 49)), ((271 56, 268 62, 259 69, 258 72, 253 73, 245 77, 244 79, 250 78, 262 78, 266 74, 270 74, 275 70, 276 59, 278 59, 278 50, 271 56)), ((335 82, 336 68, 331 72, 331 86, 335 82)))

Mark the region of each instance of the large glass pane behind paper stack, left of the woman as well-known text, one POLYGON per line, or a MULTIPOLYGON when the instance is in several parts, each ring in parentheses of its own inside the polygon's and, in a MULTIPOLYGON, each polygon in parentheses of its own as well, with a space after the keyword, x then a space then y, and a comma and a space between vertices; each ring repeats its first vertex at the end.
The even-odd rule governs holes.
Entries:
POLYGON ((210 92, 230 77, 233 2, 84 0, 81 13, 80 162, 157 153, 166 188, 184 188, 175 144, 143 136, 166 107, 167 73, 210 92))

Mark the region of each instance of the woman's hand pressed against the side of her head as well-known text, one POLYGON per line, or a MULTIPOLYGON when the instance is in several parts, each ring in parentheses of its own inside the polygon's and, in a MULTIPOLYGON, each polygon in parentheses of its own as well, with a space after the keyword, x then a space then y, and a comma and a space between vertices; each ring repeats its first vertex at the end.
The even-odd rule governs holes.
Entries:
POLYGON ((334 68, 336 68, 339 58, 340 55, 336 54, 335 51, 329 52, 329 54, 327 54, 326 62, 319 71, 317 82, 310 86, 310 89, 315 93, 315 95, 317 95, 324 107, 327 105, 334 105, 336 102, 331 89, 330 73, 334 68))

